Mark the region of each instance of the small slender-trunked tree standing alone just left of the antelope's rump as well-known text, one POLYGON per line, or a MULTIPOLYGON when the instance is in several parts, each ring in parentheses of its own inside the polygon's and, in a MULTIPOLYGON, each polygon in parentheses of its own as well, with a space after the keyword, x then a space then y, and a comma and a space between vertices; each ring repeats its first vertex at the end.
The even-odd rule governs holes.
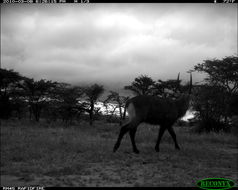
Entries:
POLYGON ((84 93, 86 95, 87 101, 89 101, 89 109, 86 111, 89 113, 89 122, 90 125, 93 124, 93 115, 94 115, 94 105, 98 98, 103 94, 104 88, 102 85, 94 84, 91 86, 88 86, 84 89, 84 93))

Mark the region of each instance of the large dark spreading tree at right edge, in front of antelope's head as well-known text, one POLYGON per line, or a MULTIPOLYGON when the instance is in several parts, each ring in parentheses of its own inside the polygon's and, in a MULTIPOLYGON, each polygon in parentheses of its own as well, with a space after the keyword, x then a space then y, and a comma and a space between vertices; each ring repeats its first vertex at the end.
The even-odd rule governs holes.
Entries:
MULTIPOLYGON (((200 105, 198 111, 202 123, 215 120, 227 125, 228 116, 233 114, 230 107, 238 92, 238 57, 204 60, 203 63, 195 65, 194 70, 207 74, 205 84, 198 88, 194 101, 195 107, 200 105), (216 114, 207 114, 210 111, 216 114)), ((212 125, 207 127, 211 128, 212 125)))

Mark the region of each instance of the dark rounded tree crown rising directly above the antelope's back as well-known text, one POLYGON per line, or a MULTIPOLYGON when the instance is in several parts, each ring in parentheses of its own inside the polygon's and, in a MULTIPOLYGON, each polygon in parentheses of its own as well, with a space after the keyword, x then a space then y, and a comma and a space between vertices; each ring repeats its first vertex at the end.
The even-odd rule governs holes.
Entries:
POLYGON ((150 95, 153 91, 153 85, 155 81, 147 75, 141 75, 131 83, 129 86, 125 86, 124 89, 131 90, 136 95, 150 95))

